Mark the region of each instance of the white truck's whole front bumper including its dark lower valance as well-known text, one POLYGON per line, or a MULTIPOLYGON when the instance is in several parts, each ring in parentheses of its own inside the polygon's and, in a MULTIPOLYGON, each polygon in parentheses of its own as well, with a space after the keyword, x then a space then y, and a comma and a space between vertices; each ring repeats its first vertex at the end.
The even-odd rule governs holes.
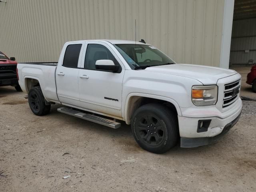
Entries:
MULTIPOLYGON (((242 111, 242 100, 238 98, 225 112, 215 112, 212 107, 195 110, 194 117, 178 116, 181 147, 197 147, 209 144, 220 137, 238 121, 242 111), (207 129, 198 130, 198 124, 210 121, 207 129)), ((189 114, 191 114, 189 112, 189 114)))

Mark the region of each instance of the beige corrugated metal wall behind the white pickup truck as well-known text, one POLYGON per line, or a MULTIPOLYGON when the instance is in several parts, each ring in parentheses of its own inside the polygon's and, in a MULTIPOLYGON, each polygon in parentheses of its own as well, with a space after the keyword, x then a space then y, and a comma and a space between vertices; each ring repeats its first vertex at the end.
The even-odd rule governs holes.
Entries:
POLYGON ((176 62, 220 65, 224 0, 7 0, 0 50, 20 62, 57 61, 66 41, 135 39, 176 62))

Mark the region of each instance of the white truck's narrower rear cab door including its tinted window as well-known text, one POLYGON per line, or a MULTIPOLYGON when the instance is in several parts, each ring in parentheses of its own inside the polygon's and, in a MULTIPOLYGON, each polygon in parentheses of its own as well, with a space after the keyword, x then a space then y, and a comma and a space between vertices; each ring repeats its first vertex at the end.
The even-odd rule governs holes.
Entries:
POLYGON ((78 72, 84 44, 84 42, 65 44, 64 57, 62 61, 59 61, 56 70, 56 84, 58 98, 63 104, 79 105, 78 72))

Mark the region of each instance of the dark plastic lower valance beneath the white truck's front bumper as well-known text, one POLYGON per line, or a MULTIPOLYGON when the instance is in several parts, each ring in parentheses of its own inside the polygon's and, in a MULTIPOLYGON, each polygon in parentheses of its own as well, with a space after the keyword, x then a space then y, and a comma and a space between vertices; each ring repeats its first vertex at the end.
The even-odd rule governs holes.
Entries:
POLYGON ((192 148, 203 145, 208 145, 216 140, 219 140, 224 134, 226 134, 239 120, 241 113, 232 122, 228 123, 222 130, 222 132, 214 137, 200 137, 200 138, 180 138, 180 147, 192 148))

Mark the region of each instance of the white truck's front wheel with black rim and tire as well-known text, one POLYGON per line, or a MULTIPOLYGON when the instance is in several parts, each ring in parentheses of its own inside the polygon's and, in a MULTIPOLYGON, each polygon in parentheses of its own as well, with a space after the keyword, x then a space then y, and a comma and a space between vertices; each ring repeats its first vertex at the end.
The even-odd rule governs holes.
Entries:
POLYGON ((152 103, 138 108, 131 126, 136 142, 149 152, 165 153, 177 143, 177 115, 162 104, 152 103))

